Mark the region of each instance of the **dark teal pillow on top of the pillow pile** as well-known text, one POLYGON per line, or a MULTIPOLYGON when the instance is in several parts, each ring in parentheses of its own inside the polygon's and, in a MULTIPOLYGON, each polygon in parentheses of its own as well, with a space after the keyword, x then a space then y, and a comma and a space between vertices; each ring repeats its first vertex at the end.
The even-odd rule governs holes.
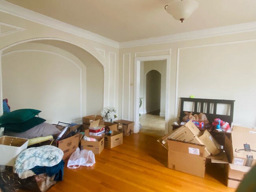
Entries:
POLYGON ((18 109, 10 113, 3 114, 0 117, 0 124, 4 123, 22 123, 25 122, 41 111, 36 109, 18 109))

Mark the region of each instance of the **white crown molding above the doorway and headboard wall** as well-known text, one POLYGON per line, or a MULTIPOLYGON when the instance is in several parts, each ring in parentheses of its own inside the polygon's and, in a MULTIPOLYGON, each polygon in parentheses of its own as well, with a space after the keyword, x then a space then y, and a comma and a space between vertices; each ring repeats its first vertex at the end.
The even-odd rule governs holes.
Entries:
POLYGON ((128 47, 135 47, 135 46, 144 46, 149 44, 184 41, 184 40, 191 40, 191 39, 201 39, 206 37, 229 35, 229 34, 243 33, 243 32, 249 32, 249 31, 256 31, 256 22, 223 26, 223 27, 211 28, 206 30, 191 31, 186 33, 177 33, 173 35, 165 35, 161 37, 153 37, 148 39, 139 39, 135 41, 126 41, 126 42, 121 42, 119 48, 128 48, 128 47))

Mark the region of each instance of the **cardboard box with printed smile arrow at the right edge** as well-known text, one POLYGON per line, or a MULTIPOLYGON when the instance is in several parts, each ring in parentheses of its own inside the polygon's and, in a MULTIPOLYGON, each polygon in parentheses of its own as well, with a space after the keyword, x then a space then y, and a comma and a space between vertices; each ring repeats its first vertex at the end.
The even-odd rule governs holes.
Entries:
POLYGON ((256 134, 232 131, 224 150, 230 163, 251 167, 256 164, 256 134))

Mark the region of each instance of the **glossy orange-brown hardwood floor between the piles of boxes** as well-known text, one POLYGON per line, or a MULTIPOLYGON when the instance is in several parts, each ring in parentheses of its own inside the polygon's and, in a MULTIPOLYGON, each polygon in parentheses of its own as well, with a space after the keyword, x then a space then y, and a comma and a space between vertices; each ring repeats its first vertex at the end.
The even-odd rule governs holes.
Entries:
MULTIPOLYGON (((234 192, 226 187, 223 168, 208 164, 204 178, 167 168, 167 150, 158 137, 142 133, 95 155, 92 167, 68 169, 48 192, 234 192)), ((67 164, 67 161, 65 161, 67 164)), ((19 192, 30 190, 19 190, 19 192)))

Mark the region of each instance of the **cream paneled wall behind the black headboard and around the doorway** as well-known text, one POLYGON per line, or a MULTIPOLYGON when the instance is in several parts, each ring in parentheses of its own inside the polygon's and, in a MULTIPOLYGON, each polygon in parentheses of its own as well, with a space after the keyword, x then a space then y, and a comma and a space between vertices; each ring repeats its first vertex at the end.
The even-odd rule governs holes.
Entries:
MULTIPOLYGON (((167 42, 144 46, 122 48, 120 50, 120 74, 122 65, 129 63, 134 71, 134 58, 171 55, 169 99, 169 129, 178 117, 180 97, 236 100, 234 124, 255 127, 256 118, 256 32, 236 33, 218 37, 167 42), (170 51, 171 50, 171 51, 170 51), (130 61, 124 57, 130 55, 130 61)), ((124 94, 126 85, 134 84, 134 74, 122 77, 124 94), (127 82, 129 80, 129 82, 127 82)), ((134 87, 129 87, 133 90, 134 87)), ((132 92, 133 93, 133 92, 132 92)), ((133 111, 134 105, 123 110, 133 111)), ((133 117, 133 116, 130 116, 133 117)), ((124 118, 128 118, 125 116, 124 118)), ((132 120, 132 118, 130 118, 132 120)))

